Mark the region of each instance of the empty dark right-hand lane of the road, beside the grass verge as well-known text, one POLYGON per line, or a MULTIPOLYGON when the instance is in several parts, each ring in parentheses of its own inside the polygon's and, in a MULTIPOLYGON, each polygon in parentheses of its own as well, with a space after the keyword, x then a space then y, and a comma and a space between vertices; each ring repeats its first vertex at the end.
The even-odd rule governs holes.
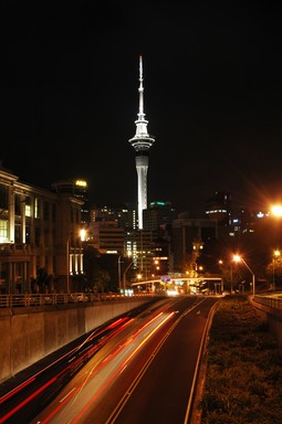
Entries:
POLYGON ((217 298, 205 298, 177 325, 107 423, 189 423, 202 336, 217 298))

